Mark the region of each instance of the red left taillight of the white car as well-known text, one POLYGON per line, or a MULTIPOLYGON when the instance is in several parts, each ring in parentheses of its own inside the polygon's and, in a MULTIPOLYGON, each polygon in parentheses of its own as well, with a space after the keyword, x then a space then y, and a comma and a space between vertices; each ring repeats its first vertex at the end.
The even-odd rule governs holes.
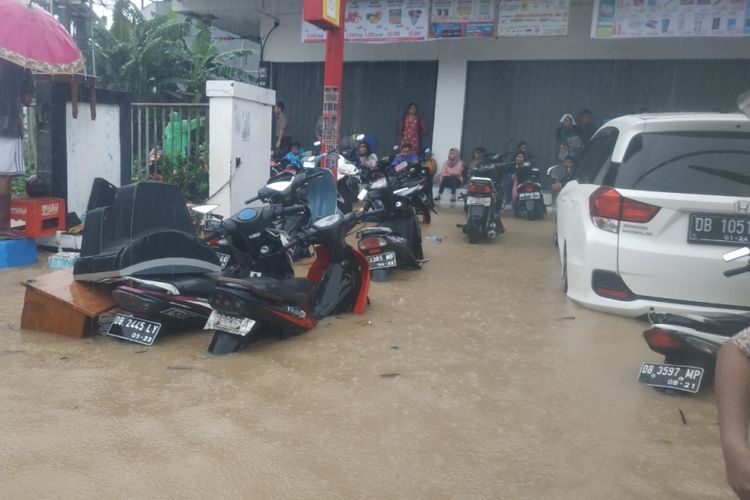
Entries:
POLYGON ((625 198, 616 189, 602 186, 589 197, 591 221, 599 229, 617 233, 620 221, 646 223, 656 216, 660 207, 625 198))

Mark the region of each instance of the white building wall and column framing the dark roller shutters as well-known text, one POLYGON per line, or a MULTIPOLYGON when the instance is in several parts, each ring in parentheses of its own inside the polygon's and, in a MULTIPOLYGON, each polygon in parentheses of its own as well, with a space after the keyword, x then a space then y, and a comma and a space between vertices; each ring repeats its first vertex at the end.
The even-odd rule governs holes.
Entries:
MULTIPOLYGON (((300 2, 301 3, 301 2, 300 2)), ((439 61, 433 145, 438 160, 450 144, 460 144, 466 92, 466 63, 481 60, 558 59, 714 59, 750 57, 750 38, 669 38, 599 40, 590 37, 592 2, 571 5, 568 35, 498 39, 437 40, 421 43, 347 44, 347 61, 439 61)), ((325 58, 323 44, 301 41, 301 6, 277 14, 280 26, 271 34, 265 60, 311 62, 325 58)), ((263 21, 261 34, 273 27, 263 21)), ((346 82, 344 83, 346 85, 346 82)))

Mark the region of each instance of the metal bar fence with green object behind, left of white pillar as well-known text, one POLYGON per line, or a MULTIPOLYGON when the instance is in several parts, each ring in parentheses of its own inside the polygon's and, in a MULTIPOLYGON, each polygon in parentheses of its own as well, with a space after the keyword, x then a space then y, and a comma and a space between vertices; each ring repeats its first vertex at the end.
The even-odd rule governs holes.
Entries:
POLYGON ((208 104, 133 103, 133 176, 158 174, 169 160, 207 155, 208 126, 208 104))

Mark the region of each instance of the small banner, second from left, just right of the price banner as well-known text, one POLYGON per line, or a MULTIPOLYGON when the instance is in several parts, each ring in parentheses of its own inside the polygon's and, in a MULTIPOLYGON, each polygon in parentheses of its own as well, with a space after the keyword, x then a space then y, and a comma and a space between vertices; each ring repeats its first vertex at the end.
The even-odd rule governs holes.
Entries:
POLYGON ((432 0, 430 38, 491 37, 495 0, 432 0))

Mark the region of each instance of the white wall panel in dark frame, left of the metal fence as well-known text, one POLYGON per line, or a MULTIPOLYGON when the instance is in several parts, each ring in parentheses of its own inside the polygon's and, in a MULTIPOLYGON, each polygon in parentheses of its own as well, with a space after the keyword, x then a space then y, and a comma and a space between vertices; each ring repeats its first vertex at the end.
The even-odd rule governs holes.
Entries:
POLYGON ((65 110, 68 145, 68 212, 82 215, 95 177, 120 185, 120 107, 96 105, 96 120, 91 120, 87 102, 78 106, 73 118, 72 104, 65 110))

